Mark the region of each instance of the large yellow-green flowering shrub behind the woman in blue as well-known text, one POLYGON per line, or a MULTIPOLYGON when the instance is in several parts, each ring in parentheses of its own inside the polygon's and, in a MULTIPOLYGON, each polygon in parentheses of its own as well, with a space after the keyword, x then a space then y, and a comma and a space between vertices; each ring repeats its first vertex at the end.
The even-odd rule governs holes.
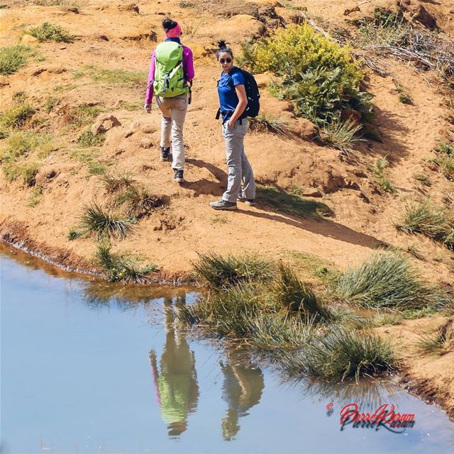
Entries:
POLYGON ((293 101, 297 114, 316 123, 331 123, 344 109, 371 111, 370 96, 360 92, 363 74, 350 49, 341 48, 307 23, 246 42, 243 62, 255 72, 272 71, 282 77, 274 94, 293 101))

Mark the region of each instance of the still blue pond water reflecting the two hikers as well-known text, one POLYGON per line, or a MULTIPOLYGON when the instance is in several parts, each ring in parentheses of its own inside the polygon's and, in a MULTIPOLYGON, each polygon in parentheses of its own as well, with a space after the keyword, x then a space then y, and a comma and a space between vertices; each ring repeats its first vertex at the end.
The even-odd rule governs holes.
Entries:
POLYGON ((283 383, 177 329, 194 292, 63 275, 2 247, 1 453, 453 453, 454 424, 390 383, 283 383), (333 402, 333 409, 326 406, 333 402), (339 411, 392 403, 392 433, 339 411))

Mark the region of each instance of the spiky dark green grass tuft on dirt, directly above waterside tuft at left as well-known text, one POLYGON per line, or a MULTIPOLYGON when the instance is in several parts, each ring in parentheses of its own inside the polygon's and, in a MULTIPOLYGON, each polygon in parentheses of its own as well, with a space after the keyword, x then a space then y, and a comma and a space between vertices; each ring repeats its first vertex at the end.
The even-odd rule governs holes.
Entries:
POLYGON ((123 218, 118 214, 105 211, 95 203, 84 206, 79 227, 84 233, 95 234, 98 238, 103 236, 126 238, 136 222, 135 218, 123 218))

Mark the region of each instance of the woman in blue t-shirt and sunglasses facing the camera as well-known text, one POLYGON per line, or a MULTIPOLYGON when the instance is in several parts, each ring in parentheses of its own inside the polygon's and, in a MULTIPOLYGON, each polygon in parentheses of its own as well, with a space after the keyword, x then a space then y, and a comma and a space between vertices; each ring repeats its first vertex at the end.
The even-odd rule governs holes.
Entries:
MULTIPOLYGON (((216 210, 236 210, 237 199, 248 205, 255 204, 253 169, 244 153, 244 136, 248 132, 248 96, 245 84, 250 82, 245 79, 245 72, 233 66, 233 52, 224 41, 219 41, 216 58, 222 67, 218 96, 222 135, 226 143, 228 182, 221 200, 211 202, 210 206, 216 210)), ((258 99, 256 101, 258 106, 258 99)))

